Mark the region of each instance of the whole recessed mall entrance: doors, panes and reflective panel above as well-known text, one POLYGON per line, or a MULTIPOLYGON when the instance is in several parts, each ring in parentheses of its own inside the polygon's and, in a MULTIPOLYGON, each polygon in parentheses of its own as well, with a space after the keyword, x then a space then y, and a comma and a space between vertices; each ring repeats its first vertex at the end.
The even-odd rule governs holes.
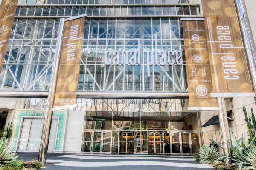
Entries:
POLYGON ((180 101, 93 99, 87 102, 81 151, 174 155, 195 153, 201 144, 198 112, 183 111, 186 107, 180 107, 180 101))

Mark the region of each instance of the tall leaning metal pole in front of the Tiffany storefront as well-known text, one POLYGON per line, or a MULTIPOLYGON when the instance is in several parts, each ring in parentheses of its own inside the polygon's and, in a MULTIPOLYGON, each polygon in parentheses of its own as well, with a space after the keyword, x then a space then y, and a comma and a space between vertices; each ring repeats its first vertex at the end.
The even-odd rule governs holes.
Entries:
POLYGON ((55 90, 56 90, 56 84, 57 84, 57 76, 58 76, 58 68, 59 68, 59 60, 60 60, 59 56, 61 53, 61 42, 62 42, 62 36, 64 31, 64 22, 65 22, 65 19, 61 18, 59 29, 58 29, 58 38, 56 42, 54 62, 52 65, 52 75, 51 75, 51 82, 49 86, 49 94, 47 98, 47 106, 46 106, 46 111, 44 116, 44 127, 43 127, 41 144, 40 144, 39 155, 38 155, 38 161, 42 163, 45 163, 47 158, 50 129, 52 124, 52 105, 54 102, 55 90))

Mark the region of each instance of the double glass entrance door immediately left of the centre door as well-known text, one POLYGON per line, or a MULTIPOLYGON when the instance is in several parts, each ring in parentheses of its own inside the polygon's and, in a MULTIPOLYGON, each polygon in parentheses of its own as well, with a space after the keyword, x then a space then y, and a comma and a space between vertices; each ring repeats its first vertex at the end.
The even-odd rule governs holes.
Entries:
POLYGON ((133 153, 134 132, 119 132, 119 153, 133 153))

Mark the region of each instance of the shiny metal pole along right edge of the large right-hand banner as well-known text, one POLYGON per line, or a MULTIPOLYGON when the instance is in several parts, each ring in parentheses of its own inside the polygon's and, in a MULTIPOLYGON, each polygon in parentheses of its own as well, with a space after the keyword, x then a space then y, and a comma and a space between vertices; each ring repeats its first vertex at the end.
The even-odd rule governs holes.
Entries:
MULTIPOLYGON (((253 40, 253 33, 250 27, 250 21, 244 0, 235 0, 235 5, 241 28, 241 34, 243 36, 244 47, 247 54, 247 63, 249 66, 250 77, 253 84, 253 91, 256 94, 256 49, 253 40)), ((254 101, 256 104, 256 97, 254 97, 254 101)))

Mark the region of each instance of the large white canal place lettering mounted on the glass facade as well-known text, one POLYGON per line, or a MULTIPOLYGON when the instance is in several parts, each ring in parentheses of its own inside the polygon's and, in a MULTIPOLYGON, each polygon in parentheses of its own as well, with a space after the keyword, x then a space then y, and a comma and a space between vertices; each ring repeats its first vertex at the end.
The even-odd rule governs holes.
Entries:
MULTIPOLYGON (((155 35, 157 37, 157 35, 155 35)), ((147 76, 150 76, 150 65, 182 65, 183 59, 182 59, 182 51, 164 51, 157 49, 157 40, 155 39, 155 45, 152 50, 143 49, 143 53, 146 59, 143 59, 143 55, 141 54, 141 45, 140 45, 140 39, 138 39, 138 47, 134 47, 137 50, 128 50, 124 49, 122 51, 119 50, 107 50, 105 52, 105 65, 141 65, 145 64, 147 65, 147 76), (154 51, 153 51, 154 50, 154 51), (167 59, 166 59, 167 58, 167 59), (143 62, 141 61, 143 60, 143 62)))

